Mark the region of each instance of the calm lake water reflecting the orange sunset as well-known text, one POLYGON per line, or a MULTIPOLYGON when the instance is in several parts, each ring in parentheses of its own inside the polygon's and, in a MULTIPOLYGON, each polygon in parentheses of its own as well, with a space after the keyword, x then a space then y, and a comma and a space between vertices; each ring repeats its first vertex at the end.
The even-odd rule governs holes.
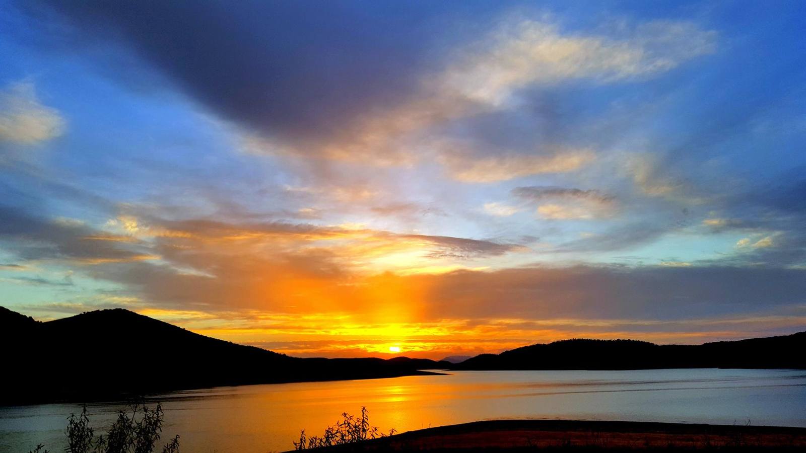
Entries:
MULTIPOLYGON (((491 418, 572 418, 806 426, 806 372, 795 370, 649 370, 455 372, 298 384, 218 387, 168 393, 164 438, 181 435, 185 452, 285 451, 344 411, 370 411, 383 430, 416 430, 491 418)), ((106 429, 119 402, 89 406, 106 429)), ((0 408, 0 452, 36 443, 64 448, 65 418, 78 405, 0 408)))

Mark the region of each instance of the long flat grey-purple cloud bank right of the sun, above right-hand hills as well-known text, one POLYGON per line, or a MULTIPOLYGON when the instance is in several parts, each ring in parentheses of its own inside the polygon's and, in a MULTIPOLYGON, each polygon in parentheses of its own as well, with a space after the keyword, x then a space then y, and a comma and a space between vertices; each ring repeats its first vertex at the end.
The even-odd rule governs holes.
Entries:
POLYGON ((430 315, 659 319, 756 314, 802 304, 806 270, 576 266, 452 272, 430 283, 430 315))

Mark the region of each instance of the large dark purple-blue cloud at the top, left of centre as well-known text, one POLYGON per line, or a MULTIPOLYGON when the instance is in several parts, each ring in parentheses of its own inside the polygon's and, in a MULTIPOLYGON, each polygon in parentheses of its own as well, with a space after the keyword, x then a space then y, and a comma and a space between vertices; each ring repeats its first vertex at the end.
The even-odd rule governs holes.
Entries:
MULTIPOLYGON (((74 41, 123 45, 223 118, 283 139, 339 134, 395 103, 433 58, 447 2, 38 2, 74 41), (424 52, 423 48, 431 50, 424 52)), ((469 7, 469 6, 467 6, 469 7)), ((485 9, 492 6, 475 6, 485 9)), ((455 10, 467 9, 458 6, 455 10)), ((451 13, 453 14, 453 13, 451 13)), ((444 18, 443 18, 444 19, 444 18)), ((444 39, 444 38, 440 38, 444 39)))

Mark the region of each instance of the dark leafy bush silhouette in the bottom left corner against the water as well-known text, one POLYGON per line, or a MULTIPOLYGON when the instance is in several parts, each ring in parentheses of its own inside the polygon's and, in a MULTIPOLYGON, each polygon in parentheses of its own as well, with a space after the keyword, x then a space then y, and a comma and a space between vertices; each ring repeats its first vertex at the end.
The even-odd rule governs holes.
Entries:
MULTIPOLYGON (((152 453, 156 442, 160 440, 164 413, 162 405, 150 409, 147 405, 132 403, 129 409, 118 412, 118 419, 112 423, 106 438, 103 434, 94 437, 95 431, 89 426, 87 406, 81 414, 70 414, 67 419, 68 453, 152 453)), ((29 453, 48 453, 44 445, 39 444, 29 453)), ((162 453, 179 453, 179 436, 166 444, 162 453)))

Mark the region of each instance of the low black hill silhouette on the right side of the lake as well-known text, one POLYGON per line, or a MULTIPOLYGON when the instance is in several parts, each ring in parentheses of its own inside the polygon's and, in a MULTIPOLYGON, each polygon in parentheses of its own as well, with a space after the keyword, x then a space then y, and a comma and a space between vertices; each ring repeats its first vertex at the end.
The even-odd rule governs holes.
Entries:
POLYGON ((700 345, 629 339, 569 339, 481 354, 453 370, 628 370, 653 368, 806 368, 806 331, 700 345))

